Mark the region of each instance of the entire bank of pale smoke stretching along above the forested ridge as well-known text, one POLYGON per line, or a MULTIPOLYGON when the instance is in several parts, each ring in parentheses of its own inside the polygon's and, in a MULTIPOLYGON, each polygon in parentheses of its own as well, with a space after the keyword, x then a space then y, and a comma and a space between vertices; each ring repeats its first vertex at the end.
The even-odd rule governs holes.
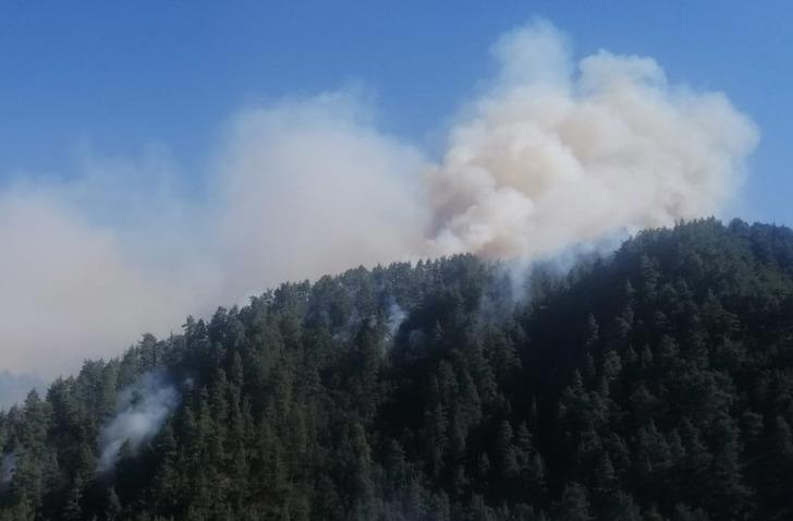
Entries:
POLYGON ((758 133, 724 95, 674 85, 650 58, 576 64, 544 22, 493 54, 498 75, 440 158, 337 92, 239 112, 204 178, 155 150, 0 192, 0 270, 13 274, 0 368, 71 371, 187 314, 359 264, 549 256, 718 213, 740 186, 758 133))

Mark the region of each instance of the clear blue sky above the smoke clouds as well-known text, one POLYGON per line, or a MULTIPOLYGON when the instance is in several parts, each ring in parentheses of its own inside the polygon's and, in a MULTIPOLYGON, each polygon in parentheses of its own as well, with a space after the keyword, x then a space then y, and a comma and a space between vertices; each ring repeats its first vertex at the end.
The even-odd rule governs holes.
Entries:
POLYGON ((734 213, 793 225, 789 1, 2 2, 0 182, 152 143, 200 175, 233 111, 351 85, 380 129, 431 154, 493 39, 534 16, 576 56, 650 56, 672 82, 727 93, 761 133, 734 213))

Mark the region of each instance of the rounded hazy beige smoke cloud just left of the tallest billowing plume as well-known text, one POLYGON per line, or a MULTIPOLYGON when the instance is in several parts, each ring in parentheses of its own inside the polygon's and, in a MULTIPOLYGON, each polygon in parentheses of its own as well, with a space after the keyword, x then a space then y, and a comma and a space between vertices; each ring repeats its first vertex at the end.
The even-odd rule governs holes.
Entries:
POLYGON ((216 181, 227 290, 239 298, 263 282, 415 254, 425 222, 422 161, 377 132, 349 93, 240 114, 216 181))

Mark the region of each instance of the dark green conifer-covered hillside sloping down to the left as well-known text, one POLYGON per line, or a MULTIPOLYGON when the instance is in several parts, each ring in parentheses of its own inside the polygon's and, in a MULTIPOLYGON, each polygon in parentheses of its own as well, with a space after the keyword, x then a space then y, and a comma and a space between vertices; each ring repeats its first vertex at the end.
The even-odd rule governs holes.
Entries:
POLYGON ((507 272, 353 269, 86 362, 0 414, 0 519, 793 519, 791 230, 507 272))

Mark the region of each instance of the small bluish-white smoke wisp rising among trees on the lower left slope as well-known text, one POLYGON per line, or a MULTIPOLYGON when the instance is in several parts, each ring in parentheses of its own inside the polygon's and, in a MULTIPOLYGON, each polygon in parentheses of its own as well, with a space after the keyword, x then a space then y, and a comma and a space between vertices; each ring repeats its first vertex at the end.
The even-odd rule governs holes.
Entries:
POLYGON ((124 444, 129 444, 135 455, 142 444, 157 434, 179 400, 176 387, 163 371, 145 373, 135 384, 122 390, 115 416, 99 434, 101 456, 97 472, 108 472, 115 467, 124 444))

